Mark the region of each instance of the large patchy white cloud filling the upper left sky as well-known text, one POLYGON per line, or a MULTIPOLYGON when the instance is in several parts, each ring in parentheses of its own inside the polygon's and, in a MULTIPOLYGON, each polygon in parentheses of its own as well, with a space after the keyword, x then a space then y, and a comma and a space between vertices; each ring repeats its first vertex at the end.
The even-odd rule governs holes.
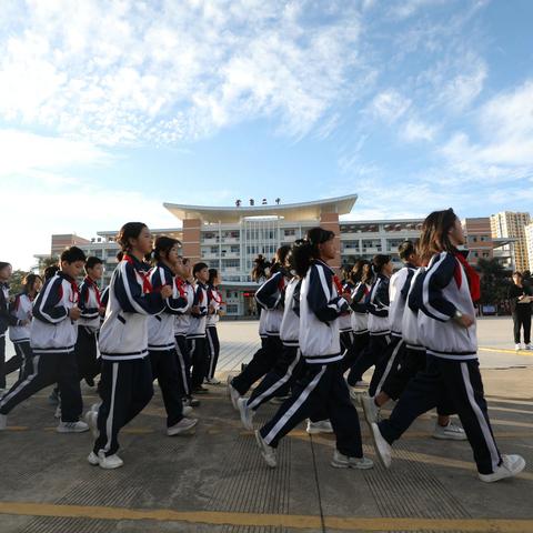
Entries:
POLYGON ((6 12, 0 118, 99 144, 258 117, 305 134, 348 98, 360 61, 359 13, 342 2, 12 0, 6 12))

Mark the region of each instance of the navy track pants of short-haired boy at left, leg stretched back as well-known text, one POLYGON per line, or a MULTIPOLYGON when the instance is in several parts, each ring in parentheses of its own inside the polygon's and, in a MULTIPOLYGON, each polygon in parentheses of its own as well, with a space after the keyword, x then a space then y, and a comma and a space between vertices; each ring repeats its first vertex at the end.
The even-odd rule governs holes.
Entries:
POLYGON ((0 413, 8 414, 16 405, 53 383, 58 383, 61 394, 61 421, 78 422, 82 402, 73 352, 34 354, 31 374, 19 379, 2 396, 0 413))

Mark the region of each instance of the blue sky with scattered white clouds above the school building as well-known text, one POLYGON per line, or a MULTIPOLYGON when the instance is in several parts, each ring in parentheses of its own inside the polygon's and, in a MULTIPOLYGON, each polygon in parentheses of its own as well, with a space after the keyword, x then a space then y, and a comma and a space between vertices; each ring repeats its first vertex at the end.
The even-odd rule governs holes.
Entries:
POLYGON ((532 211, 532 20, 529 0, 3 0, 0 259, 175 225, 163 201, 532 211))

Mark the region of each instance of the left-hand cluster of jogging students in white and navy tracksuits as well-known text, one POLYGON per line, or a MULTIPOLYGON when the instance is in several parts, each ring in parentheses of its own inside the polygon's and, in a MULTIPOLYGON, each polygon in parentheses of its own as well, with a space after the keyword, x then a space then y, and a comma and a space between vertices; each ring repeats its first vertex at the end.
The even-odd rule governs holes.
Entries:
POLYGON ((91 430, 88 461, 102 469, 123 464, 119 432, 150 402, 155 379, 170 436, 195 431, 198 419, 189 416, 200 405, 195 395, 209 393, 204 383, 219 383, 218 271, 180 257, 175 239, 159 237, 154 243, 141 222, 124 224, 117 242, 119 263, 102 292, 102 261, 77 247, 61 253, 44 280, 28 274, 14 298, 11 264, 0 262, 0 431, 19 403, 57 384, 51 395, 59 402, 57 431, 91 430), (8 328, 16 356, 6 363, 8 328), (6 374, 18 369, 18 380, 6 390, 6 374), (80 382, 94 385, 98 375, 100 401, 83 421, 80 382))

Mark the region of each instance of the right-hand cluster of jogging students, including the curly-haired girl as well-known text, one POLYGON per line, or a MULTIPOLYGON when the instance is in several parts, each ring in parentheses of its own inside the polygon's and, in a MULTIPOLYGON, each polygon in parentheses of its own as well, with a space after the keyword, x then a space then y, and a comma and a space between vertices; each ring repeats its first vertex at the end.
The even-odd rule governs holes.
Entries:
POLYGON ((416 243, 399 247, 404 264, 398 272, 389 255, 379 254, 339 279, 328 264, 336 253, 334 234, 322 228, 278 250, 255 294, 261 349, 239 375, 228 378, 229 398, 249 430, 263 403, 281 403, 255 431, 269 466, 276 466, 280 440, 308 419, 309 433, 335 434, 332 466, 371 469, 354 406, 361 402, 385 467, 392 444, 433 409, 432 436, 467 440, 481 481, 525 467, 522 456, 500 453, 491 429, 474 318, 480 278, 460 250, 464 243, 461 221, 449 209, 425 219, 416 243), (363 374, 372 366, 368 384, 363 374), (391 401, 392 413, 380 420, 391 401))

